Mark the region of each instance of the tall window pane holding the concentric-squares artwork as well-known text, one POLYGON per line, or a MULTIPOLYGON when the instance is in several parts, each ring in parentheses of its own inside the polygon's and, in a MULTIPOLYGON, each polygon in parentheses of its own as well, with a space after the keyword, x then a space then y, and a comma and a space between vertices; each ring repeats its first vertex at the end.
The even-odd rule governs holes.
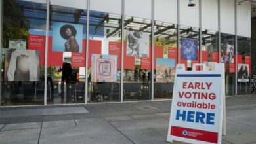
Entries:
POLYGON ((121 101, 121 15, 90 12, 88 102, 121 101))

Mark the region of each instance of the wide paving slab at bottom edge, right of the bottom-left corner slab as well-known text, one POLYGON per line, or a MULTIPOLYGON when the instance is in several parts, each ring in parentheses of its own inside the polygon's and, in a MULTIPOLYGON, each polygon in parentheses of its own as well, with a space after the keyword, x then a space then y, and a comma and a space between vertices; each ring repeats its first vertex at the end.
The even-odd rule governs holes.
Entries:
POLYGON ((124 135, 119 132, 110 132, 105 134, 87 134, 87 135, 77 135, 70 137, 58 137, 54 139, 41 139, 39 140, 39 144, 84 144, 84 143, 98 143, 98 144, 109 144, 109 143, 122 143, 122 144, 130 144, 131 141, 127 139, 124 135))

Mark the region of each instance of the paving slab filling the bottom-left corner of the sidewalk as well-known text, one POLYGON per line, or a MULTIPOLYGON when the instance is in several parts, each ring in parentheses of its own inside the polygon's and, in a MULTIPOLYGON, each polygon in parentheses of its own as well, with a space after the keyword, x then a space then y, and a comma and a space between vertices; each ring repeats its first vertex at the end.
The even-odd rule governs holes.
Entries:
POLYGON ((0 132, 1 144, 4 143, 37 143, 40 128, 26 130, 9 130, 0 132))

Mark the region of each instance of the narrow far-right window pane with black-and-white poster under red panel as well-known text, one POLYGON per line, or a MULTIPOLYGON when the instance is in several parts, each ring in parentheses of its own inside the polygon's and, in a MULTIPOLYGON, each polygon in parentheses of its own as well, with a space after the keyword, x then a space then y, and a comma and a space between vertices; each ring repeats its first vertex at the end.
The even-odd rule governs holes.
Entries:
POLYGON ((237 94, 250 94, 251 39, 238 36, 237 94))

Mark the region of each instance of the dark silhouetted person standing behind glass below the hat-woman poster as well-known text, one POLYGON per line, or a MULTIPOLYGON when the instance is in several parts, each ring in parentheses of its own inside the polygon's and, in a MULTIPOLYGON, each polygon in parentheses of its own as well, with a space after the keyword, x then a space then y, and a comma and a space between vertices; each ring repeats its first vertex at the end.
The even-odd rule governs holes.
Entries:
POLYGON ((70 101, 70 77, 72 75, 72 67, 70 63, 64 62, 62 65, 62 68, 58 70, 58 72, 62 71, 62 76, 61 76, 61 84, 60 84, 60 97, 61 100, 64 100, 64 83, 66 82, 66 92, 67 92, 67 99, 66 101, 70 101))

